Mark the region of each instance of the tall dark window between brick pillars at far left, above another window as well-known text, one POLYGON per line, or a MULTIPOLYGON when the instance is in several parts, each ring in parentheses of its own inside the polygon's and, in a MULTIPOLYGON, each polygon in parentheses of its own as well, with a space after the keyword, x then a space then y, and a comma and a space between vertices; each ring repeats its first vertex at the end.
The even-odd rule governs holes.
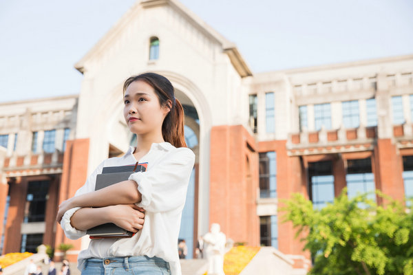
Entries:
POLYGON ((50 181, 29 182, 23 223, 45 221, 45 210, 47 193, 49 192, 49 184, 50 181))

